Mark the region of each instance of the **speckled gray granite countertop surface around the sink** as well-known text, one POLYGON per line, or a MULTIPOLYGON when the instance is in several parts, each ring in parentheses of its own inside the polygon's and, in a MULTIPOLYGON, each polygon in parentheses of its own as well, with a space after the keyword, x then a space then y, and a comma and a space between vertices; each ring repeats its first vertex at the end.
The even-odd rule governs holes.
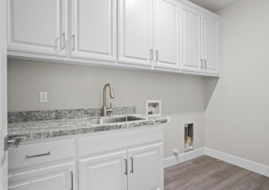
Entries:
POLYGON ((138 127, 143 125, 154 125, 158 123, 166 123, 167 119, 159 117, 147 117, 141 114, 114 115, 108 117, 92 117, 92 118, 73 118, 59 120, 44 121, 28 121, 8 123, 8 139, 15 140, 32 140, 46 137, 57 137, 70 134, 89 133, 96 131, 106 131, 112 129, 122 129, 130 127, 138 127), (106 123, 94 125, 88 119, 98 118, 115 118, 130 116, 140 118, 141 120, 106 123))

